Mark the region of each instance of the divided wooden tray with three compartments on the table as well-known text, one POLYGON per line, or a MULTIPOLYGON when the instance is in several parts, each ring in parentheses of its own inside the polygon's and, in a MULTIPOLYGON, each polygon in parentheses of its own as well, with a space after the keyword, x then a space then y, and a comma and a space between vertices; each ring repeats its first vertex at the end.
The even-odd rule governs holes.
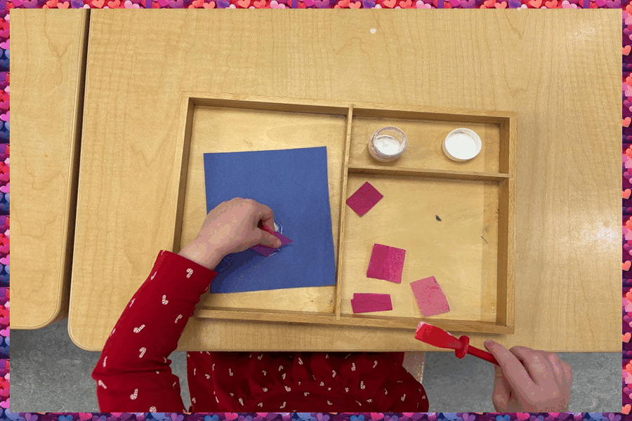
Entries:
MULTIPOLYGON (((415 329, 513 333, 515 112, 183 93, 183 151, 173 250, 206 217, 205 152, 327 146, 336 286, 203 295, 195 316, 415 329), (396 126, 409 139, 400 159, 369 156, 371 134, 396 126), (454 128, 482 140, 455 162, 442 152, 454 128), (364 182, 384 198, 360 218, 346 199, 364 182), (441 221, 435 219, 439 215, 441 221), (367 278, 374 243, 407 250, 401 284, 367 278), (451 311, 424 318, 409 283, 435 276, 451 311), (353 293, 389 293, 393 311, 353 314, 353 293)), ((178 148, 178 150, 180 150, 178 148)), ((230 198, 229 198, 230 199, 230 198)))

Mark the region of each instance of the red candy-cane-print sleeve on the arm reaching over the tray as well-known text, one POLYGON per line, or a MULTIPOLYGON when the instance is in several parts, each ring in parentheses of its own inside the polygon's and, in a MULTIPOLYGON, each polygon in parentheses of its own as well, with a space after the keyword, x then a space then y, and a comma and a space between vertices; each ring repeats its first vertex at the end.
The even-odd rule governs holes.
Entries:
POLYGON ((216 275, 187 258, 160 252, 92 372, 102 412, 186 412, 167 357, 216 275))

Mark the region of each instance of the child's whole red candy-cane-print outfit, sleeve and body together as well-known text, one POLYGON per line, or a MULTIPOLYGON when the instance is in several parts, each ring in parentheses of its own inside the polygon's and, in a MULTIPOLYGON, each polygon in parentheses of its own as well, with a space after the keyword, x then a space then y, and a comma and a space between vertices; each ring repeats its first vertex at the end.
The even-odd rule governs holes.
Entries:
POLYGON ((167 357, 216 274, 159 253, 92 372, 101 411, 428 411, 426 392, 402 367, 403 353, 331 352, 187 352, 187 411, 167 357))

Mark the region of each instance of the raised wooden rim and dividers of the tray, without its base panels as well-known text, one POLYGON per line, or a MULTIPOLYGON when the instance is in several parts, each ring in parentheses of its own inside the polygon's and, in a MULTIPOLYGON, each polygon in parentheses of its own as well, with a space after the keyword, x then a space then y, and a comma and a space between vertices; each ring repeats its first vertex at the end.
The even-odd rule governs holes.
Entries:
MULTIPOLYGON (((178 207, 173 236, 173 250, 179 250, 182 234, 182 218, 187 185, 187 169, 193 115, 196 106, 231 107, 275 112, 302 112, 309 114, 334 114, 345 116, 345 149, 343 152, 341 208, 338 235, 336 279, 343 265, 343 240, 345 234, 345 199, 348 174, 402 175, 454 180, 485 180, 499 184, 498 216, 498 267, 496 279, 496 322, 428 319, 433 325, 446 330, 475 333, 514 333, 515 309, 515 166, 517 136, 516 112, 480 111, 473 109, 402 107, 334 100, 307 100, 296 98, 258 97, 219 93, 183 92, 180 112, 178 149, 183 151, 178 188, 178 207), (458 121, 463 123, 493 123, 500 126, 499 172, 431 170, 426 168, 390 168, 381 166, 349 166, 351 123, 354 116, 386 119, 414 119, 426 121, 458 121)), ((178 150, 176 149, 176 150, 178 150)), ((269 309, 220 308, 197 309, 195 316, 210 319, 237 319, 249 321, 277 321, 291 323, 316 323, 338 326, 371 326, 382 328, 416 329, 423 318, 371 316, 366 314, 341 314, 341 283, 336 282, 333 313, 296 312, 269 309)))

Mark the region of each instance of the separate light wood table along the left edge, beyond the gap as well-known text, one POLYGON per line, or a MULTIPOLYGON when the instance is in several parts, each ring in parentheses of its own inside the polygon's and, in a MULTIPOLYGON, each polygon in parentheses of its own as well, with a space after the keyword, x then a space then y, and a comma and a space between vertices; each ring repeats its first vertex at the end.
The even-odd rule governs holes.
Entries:
POLYGON ((67 315, 87 11, 11 11, 11 328, 67 315))

